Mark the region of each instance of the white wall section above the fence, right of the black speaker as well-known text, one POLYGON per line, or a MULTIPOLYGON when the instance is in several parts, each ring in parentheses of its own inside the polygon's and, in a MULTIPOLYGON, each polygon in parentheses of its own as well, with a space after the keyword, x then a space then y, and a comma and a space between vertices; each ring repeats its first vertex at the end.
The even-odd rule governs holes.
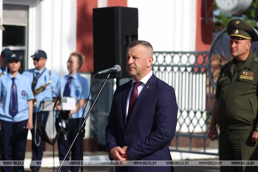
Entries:
POLYGON ((196 0, 128 0, 138 8, 138 39, 154 51, 195 50, 196 0))

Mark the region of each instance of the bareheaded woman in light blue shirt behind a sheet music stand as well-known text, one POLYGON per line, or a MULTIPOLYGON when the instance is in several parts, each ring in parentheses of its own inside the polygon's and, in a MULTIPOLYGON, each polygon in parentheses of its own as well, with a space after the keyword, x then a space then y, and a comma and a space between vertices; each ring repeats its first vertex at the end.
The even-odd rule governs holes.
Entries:
MULTIPOLYGON (((77 134, 76 130, 83 122, 82 120, 81 124, 79 123, 82 117, 84 105, 90 92, 90 84, 88 79, 79 75, 79 69, 82 67, 84 59, 85 57, 81 53, 71 53, 67 61, 67 69, 69 74, 60 78, 57 89, 54 92, 54 97, 61 98, 62 96, 66 96, 74 97, 76 99, 75 110, 65 112, 61 111, 61 106, 58 105, 59 101, 57 102, 57 109, 60 111, 59 116, 55 122, 57 132, 60 130, 61 126, 64 127, 62 119, 69 119, 69 123, 66 123, 66 126, 64 127, 68 132, 64 137, 58 139, 58 154, 59 160, 61 161, 64 160, 66 152, 68 151, 71 142, 77 134)), ((78 140, 75 143, 77 143, 77 145, 74 144, 71 149, 71 160, 80 160, 81 138, 78 137, 78 140)), ((69 160, 69 157, 66 157, 66 160, 69 160)), ((75 171, 78 170, 79 166, 76 166, 75 171)), ((74 166, 62 166, 61 171, 74 171, 74 166)))

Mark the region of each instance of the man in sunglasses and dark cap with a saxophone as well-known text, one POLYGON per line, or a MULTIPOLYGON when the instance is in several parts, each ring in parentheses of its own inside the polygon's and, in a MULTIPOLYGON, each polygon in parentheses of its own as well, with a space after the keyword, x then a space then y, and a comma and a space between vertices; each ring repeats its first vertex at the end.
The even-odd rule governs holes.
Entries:
MULTIPOLYGON (((33 102, 33 124, 36 128, 37 123, 43 121, 46 126, 49 112, 40 113, 39 104, 41 101, 52 100, 53 91, 56 88, 59 77, 55 72, 45 67, 47 62, 47 54, 43 50, 37 50, 31 56, 34 62, 34 69, 24 71, 23 74, 30 78, 31 89, 36 99, 33 102)), ((44 141, 39 138, 35 128, 31 130, 32 134, 32 160, 42 160, 44 151, 44 141)), ((31 166, 32 171, 39 171, 40 166, 31 166)))

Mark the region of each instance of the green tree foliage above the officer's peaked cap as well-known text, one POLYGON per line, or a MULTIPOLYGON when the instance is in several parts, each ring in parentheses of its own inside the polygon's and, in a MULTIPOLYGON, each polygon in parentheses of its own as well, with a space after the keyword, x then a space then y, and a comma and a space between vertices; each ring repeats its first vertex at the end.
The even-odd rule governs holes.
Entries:
POLYGON ((223 13, 219 10, 217 4, 214 2, 214 12, 213 12, 213 31, 219 32, 224 27, 227 27, 227 23, 235 18, 241 18, 248 22, 251 26, 256 28, 257 27, 257 19, 258 19, 258 0, 253 0, 251 6, 249 9, 247 9, 243 14, 241 15, 231 15, 223 13))

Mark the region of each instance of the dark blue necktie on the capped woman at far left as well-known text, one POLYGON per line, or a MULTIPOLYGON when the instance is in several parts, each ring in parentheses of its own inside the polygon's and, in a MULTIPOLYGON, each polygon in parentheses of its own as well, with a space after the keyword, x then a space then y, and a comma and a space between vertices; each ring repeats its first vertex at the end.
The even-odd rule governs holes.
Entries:
POLYGON ((18 113, 17 88, 14 80, 15 78, 12 78, 11 98, 9 105, 9 114, 12 117, 14 117, 18 113))

